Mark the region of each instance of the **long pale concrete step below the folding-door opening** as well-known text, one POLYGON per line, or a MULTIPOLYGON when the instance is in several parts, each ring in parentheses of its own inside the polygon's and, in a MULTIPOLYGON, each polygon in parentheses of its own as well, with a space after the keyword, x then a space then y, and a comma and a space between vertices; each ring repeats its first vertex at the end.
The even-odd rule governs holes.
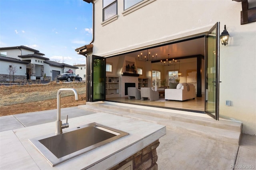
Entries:
POLYGON ((216 121, 206 114, 176 111, 148 106, 134 106, 115 102, 86 102, 80 109, 110 113, 165 125, 167 129, 192 133, 239 145, 242 123, 229 120, 216 121))

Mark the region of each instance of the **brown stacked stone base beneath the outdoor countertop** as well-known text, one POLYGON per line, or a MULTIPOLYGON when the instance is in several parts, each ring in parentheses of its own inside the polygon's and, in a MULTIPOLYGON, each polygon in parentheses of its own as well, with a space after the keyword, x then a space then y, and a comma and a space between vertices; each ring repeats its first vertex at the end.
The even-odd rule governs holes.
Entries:
POLYGON ((123 162, 120 162, 116 166, 112 167, 110 170, 117 170, 124 164, 132 161, 134 170, 157 170, 157 154, 156 148, 159 146, 159 141, 154 141, 144 149, 138 151, 136 154, 130 156, 123 162))

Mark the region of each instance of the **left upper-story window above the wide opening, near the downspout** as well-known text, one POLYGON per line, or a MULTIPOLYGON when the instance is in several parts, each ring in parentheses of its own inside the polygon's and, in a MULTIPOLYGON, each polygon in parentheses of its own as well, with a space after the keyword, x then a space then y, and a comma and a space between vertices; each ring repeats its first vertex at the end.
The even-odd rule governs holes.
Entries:
POLYGON ((103 21, 117 15, 117 0, 103 0, 103 21))

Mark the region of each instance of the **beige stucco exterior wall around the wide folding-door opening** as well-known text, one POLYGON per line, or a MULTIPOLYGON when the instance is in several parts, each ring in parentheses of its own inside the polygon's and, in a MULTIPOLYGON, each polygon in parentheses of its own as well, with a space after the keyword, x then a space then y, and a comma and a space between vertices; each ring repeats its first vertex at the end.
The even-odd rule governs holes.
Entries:
POLYGON ((232 0, 152 0, 102 26, 102 1, 95 0, 94 55, 111 56, 206 32, 220 21, 229 44, 220 45, 220 117, 243 122, 243 133, 256 134, 256 22, 240 25, 241 2, 232 0), (231 106, 225 101, 230 100, 231 106))

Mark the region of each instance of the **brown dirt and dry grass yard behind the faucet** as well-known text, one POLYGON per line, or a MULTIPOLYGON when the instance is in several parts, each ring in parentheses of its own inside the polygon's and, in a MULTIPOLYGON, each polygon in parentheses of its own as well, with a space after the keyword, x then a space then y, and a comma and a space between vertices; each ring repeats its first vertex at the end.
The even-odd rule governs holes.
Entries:
POLYGON ((76 101, 73 92, 61 92, 61 108, 86 103, 85 82, 0 86, 0 116, 57 109, 57 92, 60 88, 74 88, 79 96, 76 101))

